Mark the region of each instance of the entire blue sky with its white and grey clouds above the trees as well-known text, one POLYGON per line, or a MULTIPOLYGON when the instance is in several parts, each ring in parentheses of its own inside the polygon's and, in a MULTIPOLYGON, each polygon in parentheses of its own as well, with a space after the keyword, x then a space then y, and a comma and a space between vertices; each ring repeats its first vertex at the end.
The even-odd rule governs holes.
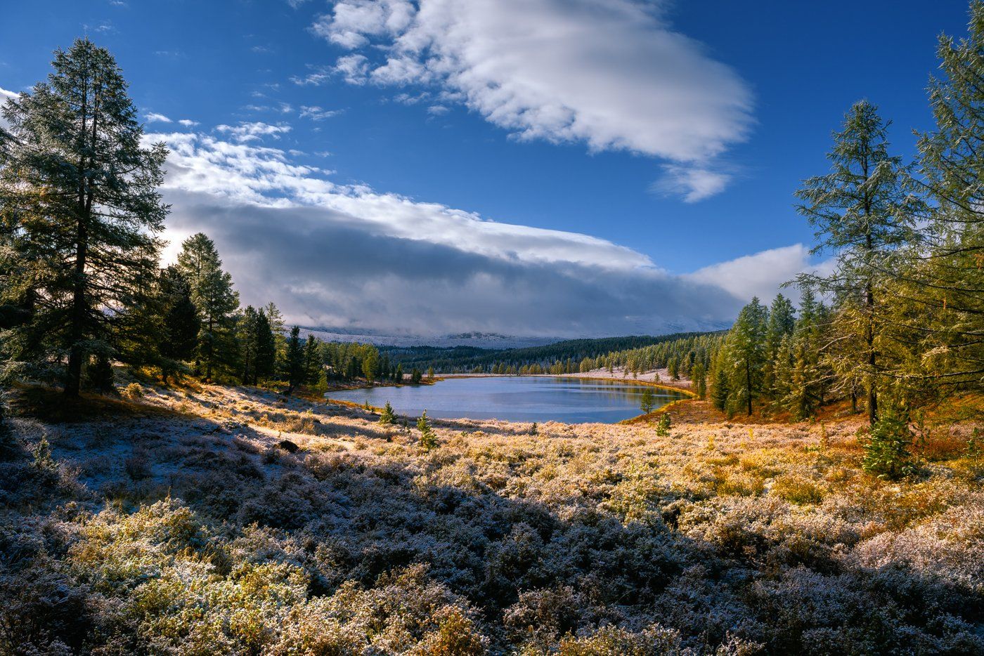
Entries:
MULTIPOLYGON (((309 327, 727 326, 830 267, 795 211, 861 98, 915 156, 962 0, 0 0, 0 95, 89 35, 215 239, 309 327)), ((788 293, 788 292, 787 292, 788 293)), ((795 295, 795 292, 792 292, 795 295)))

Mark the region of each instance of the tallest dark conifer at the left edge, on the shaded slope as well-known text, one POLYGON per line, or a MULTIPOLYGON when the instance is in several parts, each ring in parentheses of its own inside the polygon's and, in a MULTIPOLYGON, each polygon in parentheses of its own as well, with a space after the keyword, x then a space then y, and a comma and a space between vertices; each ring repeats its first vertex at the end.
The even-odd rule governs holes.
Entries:
POLYGON ((121 356, 117 327, 154 292, 167 151, 142 146, 107 50, 81 38, 54 55, 47 81, 3 107, 0 216, 17 239, 0 256, 0 305, 27 302, 31 313, 5 348, 31 359, 67 352, 65 394, 76 396, 91 356, 121 356))

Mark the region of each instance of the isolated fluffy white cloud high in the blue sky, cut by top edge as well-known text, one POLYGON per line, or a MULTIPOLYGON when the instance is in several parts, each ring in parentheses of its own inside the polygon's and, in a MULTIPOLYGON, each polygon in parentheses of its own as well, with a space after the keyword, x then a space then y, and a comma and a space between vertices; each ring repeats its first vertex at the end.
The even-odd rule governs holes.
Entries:
POLYGON ((435 85, 519 139, 668 160, 694 202, 727 184, 707 162, 746 137, 752 96, 666 4, 339 0, 313 30, 359 51, 336 64, 352 84, 435 85))

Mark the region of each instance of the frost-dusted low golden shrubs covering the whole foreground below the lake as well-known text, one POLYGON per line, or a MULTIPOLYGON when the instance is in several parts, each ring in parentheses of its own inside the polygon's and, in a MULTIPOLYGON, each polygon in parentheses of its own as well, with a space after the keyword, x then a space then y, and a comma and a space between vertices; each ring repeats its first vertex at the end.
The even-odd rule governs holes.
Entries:
POLYGON ((968 425, 890 483, 850 422, 438 421, 425 451, 255 389, 105 408, 6 422, 4 653, 984 653, 968 425))

